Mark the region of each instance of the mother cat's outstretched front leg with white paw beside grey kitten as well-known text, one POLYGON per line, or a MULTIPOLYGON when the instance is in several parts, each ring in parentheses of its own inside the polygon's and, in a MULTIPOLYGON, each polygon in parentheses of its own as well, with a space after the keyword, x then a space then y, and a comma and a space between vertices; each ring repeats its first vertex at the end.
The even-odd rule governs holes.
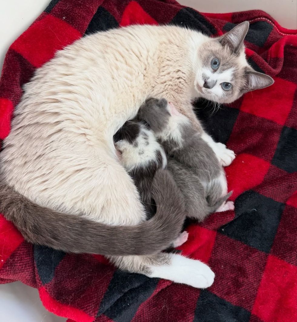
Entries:
POLYGON ((186 104, 178 108, 183 115, 188 117, 193 124, 194 128, 201 134, 202 139, 208 143, 208 145, 215 152, 218 160, 222 166, 229 166, 232 161, 235 159, 235 153, 232 150, 227 149, 225 144, 220 142, 215 142, 210 135, 208 135, 202 128, 202 125, 196 114, 193 111, 191 104, 186 104))

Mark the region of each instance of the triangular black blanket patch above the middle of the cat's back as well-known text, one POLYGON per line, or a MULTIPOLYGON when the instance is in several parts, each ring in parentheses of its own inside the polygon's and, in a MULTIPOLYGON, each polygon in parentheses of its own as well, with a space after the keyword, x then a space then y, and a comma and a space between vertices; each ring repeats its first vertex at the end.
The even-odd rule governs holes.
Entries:
POLYGON ((97 9, 86 30, 86 35, 96 33, 97 31, 106 31, 119 26, 115 17, 103 7, 97 9))

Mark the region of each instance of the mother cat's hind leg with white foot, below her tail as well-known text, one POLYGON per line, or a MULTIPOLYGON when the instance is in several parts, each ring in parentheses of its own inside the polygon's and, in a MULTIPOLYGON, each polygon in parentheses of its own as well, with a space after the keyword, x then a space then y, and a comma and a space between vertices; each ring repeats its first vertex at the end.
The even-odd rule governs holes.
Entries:
POLYGON ((159 253, 151 256, 121 256, 111 258, 122 270, 144 274, 148 277, 169 279, 196 288, 212 285, 215 274, 204 263, 178 254, 159 253))

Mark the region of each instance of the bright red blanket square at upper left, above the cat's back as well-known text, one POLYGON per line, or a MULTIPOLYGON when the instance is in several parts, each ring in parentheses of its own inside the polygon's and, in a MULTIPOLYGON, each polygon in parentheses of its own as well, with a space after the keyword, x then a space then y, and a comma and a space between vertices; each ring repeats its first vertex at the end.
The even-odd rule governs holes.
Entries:
POLYGON ((81 34, 58 18, 46 15, 32 24, 11 45, 33 66, 40 67, 49 61, 55 52, 79 39, 81 34))

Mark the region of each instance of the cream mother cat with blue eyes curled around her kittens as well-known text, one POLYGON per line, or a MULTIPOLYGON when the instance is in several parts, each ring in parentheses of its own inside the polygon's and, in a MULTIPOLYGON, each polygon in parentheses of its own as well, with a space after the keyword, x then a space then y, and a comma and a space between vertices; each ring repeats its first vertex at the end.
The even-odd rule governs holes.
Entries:
MULTIPOLYGON (((100 246, 106 246, 101 245, 104 238, 108 245, 113 231, 98 223, 144 221, 135 185, 117 161, 113 135, 135 117, 148 96, 172 101, 222 164, 230 164, 234 153, 203 131, 191 100, 203 97, 228 103, 273 83, 246 62, 247 30, 245 22, 222 37, 209 38, 175 26, 130 26, 84 37, 57 52, 25 85, 0 155, 0 210, 6 218, 29 241, 79 252, 100 251, 100 246), (90 230, 89 220, 60 213, 61 224, 58 212, 40 206, 97 223, 90 230)), ((131 233, 127 239, 144 242, 134 237, 131 233)), ((122 269, 150 277, 194 287, 212 284, 214 274, 207 265, 157 252, 162 246, 155 245, 153 255, 111 260, 122 269)), ((125 245, 119 249, 121 255, 139 254, 128 244, 127 249, 125 245)), ((102 253, 119 254, 113 248, 102 253)))

